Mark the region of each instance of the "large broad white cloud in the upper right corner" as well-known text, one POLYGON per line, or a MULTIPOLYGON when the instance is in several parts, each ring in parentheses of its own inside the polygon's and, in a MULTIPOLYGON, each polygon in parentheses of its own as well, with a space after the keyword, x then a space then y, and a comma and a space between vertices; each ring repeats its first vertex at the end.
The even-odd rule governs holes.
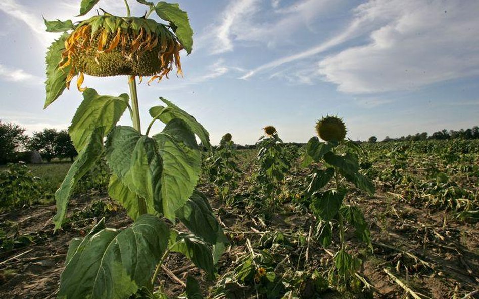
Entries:
POLYGON ((319 72, 347 93, 413 90, 477 75, 478 11, 477 1, 370 1, 356 9, 356 18, 375 25, 370 41, 326 57, 319 72))

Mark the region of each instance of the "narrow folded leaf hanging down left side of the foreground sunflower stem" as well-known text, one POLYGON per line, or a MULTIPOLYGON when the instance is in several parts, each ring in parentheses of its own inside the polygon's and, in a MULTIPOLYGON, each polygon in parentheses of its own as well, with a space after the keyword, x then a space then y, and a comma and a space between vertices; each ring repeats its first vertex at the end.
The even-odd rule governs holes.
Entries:
POLYGON ((78 157, 73 162, 70 170, 68 170, 65 179, 60 188, 55 192, 55 200, 57 201, 57 214, 53 217, 55 229, 62 226, 63 219, 67 212, 68 201, 70 196, 80 180, 90 168, 92 168, 103 152, 103 135, 104 129, 99 127, 93 131, 88 139, 88 143, 78 153, 78 157))

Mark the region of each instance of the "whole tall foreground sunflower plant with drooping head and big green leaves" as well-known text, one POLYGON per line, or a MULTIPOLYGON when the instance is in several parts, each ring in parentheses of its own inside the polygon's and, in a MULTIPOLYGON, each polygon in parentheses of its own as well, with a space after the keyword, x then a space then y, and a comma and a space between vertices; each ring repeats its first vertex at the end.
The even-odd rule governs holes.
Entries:
MULTIPOLYGON (((98 2, 82 0, 80 16, 98 2)), ((69 88, 75 76, 83 92, 69 127, 78 157, 55 193, 56 230, 66 220, 69 199, 81 177, 102 156, 112 173, 108 193, 134 220, 119 230, 107 228, 102 219, 85 237, 70 242, 57 294, 61 299, 164 299, 157 277, 170 252, 184 254, 214 278, 215 264, 227 242, 208 199, 195 189, 201 172, 196 136, 211 149, 208 132, 193 116, 161 97, 164 105, 150 109, 152 120, 144 134, 140 126, 136 77, 161 80, 175 67, 182 74, 180 51, 189 54, 193 45, 188 15, 177 4, 138 2, 146 5, 143 17, 130 16, 124 0, 126 17, 104 12, 77 23, 45 20, 47 31, 63 32, 46 56, 45 108, 69 88), (165 24, 149 18, 153 12, 165 24), (99 95, 83 88, 84 74, 128 76, 130 96, 99 95), (127 109, 132 126, 118 126, 127 109), (150 136, 156 121, 165 127, 150 136), (189 232, 171 228, 177 219, 189 232)), ((193 277, 187 279, 185 296, 201 298, 193 277)))

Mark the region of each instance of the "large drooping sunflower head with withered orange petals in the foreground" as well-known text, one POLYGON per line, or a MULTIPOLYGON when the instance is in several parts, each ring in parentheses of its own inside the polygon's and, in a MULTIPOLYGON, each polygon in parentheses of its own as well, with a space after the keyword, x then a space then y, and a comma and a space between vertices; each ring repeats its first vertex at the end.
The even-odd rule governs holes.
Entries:
POLYGON ((81 22, 65 41, 59 68, 71 66, 66 84, 76 73, 106 77, 129 75, 163 77, 176 66, 182 75, 179 51, 183 47, 165 25, 155 20, 111 15, 81 22))

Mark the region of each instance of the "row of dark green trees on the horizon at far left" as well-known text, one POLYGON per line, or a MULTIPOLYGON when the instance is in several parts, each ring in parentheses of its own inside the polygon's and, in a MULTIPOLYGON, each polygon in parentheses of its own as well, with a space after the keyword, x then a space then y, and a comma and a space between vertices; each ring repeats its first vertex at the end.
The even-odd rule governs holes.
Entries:
POLYGON ((67 130, 44 129, 32 136, 27 136, 25 131, 17 124, 0 120, 0 164, 18 161, 23 151, 38 151, 48 162, 53 158, 73 161, 78 155, 67 130))

